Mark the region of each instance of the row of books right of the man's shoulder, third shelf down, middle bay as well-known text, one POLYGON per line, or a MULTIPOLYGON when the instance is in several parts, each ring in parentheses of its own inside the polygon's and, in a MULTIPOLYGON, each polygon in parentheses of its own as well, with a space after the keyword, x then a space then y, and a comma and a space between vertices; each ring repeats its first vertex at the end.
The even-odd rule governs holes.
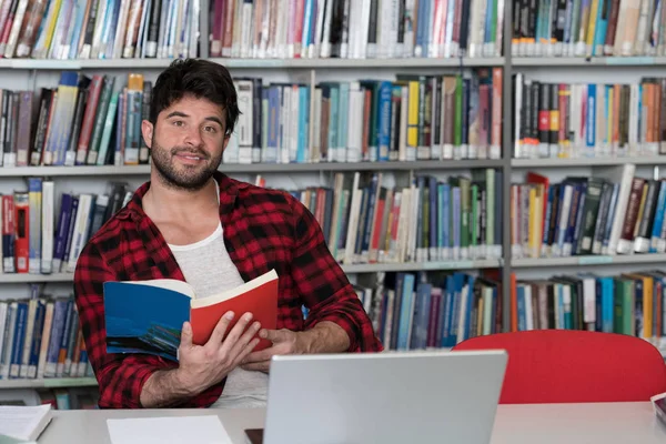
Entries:
POLYGON ((401 186, 383 173, 355 173, 353 181, 337 173, 332 189, 292 194, 343 264, 500 259, 502 176, 493 169, 445 180, 416 175, 401 186))

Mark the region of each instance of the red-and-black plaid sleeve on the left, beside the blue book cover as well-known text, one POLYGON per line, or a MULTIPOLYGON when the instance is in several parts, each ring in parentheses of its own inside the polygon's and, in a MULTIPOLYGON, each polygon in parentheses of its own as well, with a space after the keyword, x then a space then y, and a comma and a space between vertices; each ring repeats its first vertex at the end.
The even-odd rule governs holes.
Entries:
POLYGON ((141 390, 155 371, 173 364, 159 356, 107 353, 103 283, 117 280, 99 249, 89 243, 74 271, 74 297, 85 351, 99 384, 101 408, 141 408, 141 390))

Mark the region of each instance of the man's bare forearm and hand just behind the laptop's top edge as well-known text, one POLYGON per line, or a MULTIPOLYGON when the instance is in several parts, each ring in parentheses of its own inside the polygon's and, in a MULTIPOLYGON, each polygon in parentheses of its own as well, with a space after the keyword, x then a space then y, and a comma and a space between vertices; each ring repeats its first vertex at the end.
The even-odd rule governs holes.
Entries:
POLYGON ((262 330, 259 336, 271 341, 273 346, 250 353, 241 365, 243 370, 268 373, 274 355, 342 353, 350 347, 346 332, 340 325, 329 321, 320 322, 305 332, 262 330))

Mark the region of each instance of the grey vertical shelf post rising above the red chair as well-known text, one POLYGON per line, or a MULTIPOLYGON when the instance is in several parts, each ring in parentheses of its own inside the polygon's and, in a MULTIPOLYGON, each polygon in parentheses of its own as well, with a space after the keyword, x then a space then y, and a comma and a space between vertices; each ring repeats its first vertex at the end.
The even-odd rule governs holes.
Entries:
POLYGON ((505 332, 511 331, 511 158, 513 154, 512 140, 512 101, 513 101, 513 70, 512 70, 512 34, 513 16, 512 1, 504 0, 504 67, 502 87, 502 326, 505 332))

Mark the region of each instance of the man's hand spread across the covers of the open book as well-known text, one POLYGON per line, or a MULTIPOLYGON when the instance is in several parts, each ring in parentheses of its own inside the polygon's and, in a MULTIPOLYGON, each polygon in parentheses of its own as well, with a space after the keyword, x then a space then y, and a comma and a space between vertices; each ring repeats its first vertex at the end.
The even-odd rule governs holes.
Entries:
POLYGON ((225 313, 204 345, 193 344, 192 326, 188 322, 183 325, 179 346, 180 365, 175 372, 180 382, 191 390, 192 394, 222 381, 259 343, 259 339, 254 336, 261 325, 254 322, 248 326, 252 321, 251 313, 243 314, 226 334, 233 319, 234 313, 225 313))

